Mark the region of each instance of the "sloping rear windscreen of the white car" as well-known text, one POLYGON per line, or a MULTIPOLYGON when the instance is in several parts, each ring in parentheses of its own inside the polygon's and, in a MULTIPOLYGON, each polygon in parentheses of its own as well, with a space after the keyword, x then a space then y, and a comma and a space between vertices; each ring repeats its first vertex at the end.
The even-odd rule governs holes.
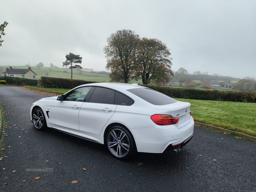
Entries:
POLYGON ((172 97, 148 88, 130 89, 128 91, 153 105, 168 105, 177 102, 172 97))

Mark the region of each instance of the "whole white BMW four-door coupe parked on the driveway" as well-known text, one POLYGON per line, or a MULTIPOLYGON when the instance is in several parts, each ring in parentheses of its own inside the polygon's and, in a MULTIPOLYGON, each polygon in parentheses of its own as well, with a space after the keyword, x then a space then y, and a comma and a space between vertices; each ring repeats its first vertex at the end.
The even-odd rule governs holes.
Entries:
POLYGON ((137 151, 180 151, 194 131, 190 103, 138 84, 84 84, 33 103, 30 114, 38 130, 105 144, 120 160, 137 151))

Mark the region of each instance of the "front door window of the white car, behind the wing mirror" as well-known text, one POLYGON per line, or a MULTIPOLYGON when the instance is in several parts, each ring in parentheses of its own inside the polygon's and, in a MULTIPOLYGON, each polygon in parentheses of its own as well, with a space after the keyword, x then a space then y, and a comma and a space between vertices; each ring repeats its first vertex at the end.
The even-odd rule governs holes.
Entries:
POLYGON ((70 91, 66 96, 64 101, 80 101, 84 102, 84 98, 92 87, 80 87, 76 90, 70 91))

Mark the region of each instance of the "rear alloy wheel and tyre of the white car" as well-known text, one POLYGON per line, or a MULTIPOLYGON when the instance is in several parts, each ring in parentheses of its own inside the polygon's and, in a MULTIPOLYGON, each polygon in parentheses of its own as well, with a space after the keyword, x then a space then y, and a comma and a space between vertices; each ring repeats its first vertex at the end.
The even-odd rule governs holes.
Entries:
POLYGON ((126 160, 137 151, 131 133, 120 126, 114 126, 108 130, 105 144, 113 157, 119 160, 126 160))

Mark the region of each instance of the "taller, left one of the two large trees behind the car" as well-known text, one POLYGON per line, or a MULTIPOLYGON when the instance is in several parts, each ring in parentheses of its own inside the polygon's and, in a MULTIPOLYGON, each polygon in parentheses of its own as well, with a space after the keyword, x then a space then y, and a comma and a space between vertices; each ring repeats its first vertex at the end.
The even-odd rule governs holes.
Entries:
POLYGON ((136 47, 140 36, 131 30, 118 30, 108 37, 108 45, 103 51, 107 58, 106 69, 110 70, 109 77, 112 82, 128 83, 132 79, 136 47))

